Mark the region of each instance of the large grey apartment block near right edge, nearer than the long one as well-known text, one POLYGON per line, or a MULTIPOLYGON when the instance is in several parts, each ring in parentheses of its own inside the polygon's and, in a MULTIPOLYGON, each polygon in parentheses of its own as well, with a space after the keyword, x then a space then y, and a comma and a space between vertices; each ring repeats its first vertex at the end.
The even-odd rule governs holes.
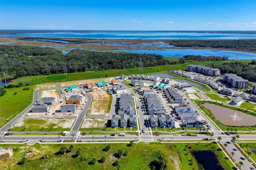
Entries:
POLYGON ((248 80, 245 80, 242 77, 237 76, 236 74, 224 74, 223 81, 238 89, 247 89, 249 83, 248 80))

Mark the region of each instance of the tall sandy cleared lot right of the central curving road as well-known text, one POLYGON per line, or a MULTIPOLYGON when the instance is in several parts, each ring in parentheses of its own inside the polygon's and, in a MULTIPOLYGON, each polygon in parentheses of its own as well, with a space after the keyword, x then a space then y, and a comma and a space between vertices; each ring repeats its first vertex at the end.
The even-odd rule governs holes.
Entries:
POLYGON ((106 91, 94 91, 90 95, 92 95, 92 104, 86 115, 109 115, 112 96, 106 91))

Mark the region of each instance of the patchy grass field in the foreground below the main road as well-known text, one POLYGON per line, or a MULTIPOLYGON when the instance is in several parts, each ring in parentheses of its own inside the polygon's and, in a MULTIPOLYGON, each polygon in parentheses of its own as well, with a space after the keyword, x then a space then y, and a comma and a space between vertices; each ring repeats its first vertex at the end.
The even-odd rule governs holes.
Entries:
MULTIPOLYGON (((132 146, 127 146, 127 144, 118 143, 110 144, 110 150, 104 151, 107 144, 73 144, 74 148, 70 152, 62 155, 58 151, 60 147, 66 146, 69 148, 69 144, 34 144, 34 145, 24 145, 24 144, 8 144, 0 145, 5 149, 10 149, 9 152, 13 156, 8 156, 8 154, 2 156, 0 159, 0 169, 86 169, 86 170, 102 170, 102 169, 115 169, 112 163, 118 159, 121 169, 133 169, 133 170, 149 170, 150 162, 156 158, 156 153, 161 152, 167 159, 168 170, 180 169, 198 169, 197 164, 194 163, 190 165, 190 159, 192 155, 190 152, 184 150, 186 144, 162 144, 162 143, 150 143, 150 144, 133 144, 132 146), (76 157, 76 150, 81 149, 80 156, 76 157), (113 154, 117 152, 118 149, 128 150, 128 156, 122 156, 121 158, 116 158, 113 154), (42 159, 42 155, 47 154, 50 156, 48 159, 42 159), (18 165, 22 156, 28 156, 28 162, 24 165, 18 165), (100 163, 96 162, 91 165, 89 162, 92 158, 99 160, 101 156, 106 156, 106 162, 100 163), (65 160, 65 161, 63 161, 65 160)), ((225 155, 222 151, 219 151, 216 144, 193 144, 192 150, 202 150, 210 149, 213 150, 217 155, 221 164, 226 170, 232 169, 232 164, 230 160, 225 159, 225 155)))

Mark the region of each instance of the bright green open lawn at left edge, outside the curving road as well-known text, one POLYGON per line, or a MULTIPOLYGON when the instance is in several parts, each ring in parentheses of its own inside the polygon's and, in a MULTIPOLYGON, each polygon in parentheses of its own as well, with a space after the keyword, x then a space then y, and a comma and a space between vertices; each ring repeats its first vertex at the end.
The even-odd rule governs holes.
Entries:
POLYGON ((0 127, 32 103, 34 86, 28 87, 30 87, 29 90, 22 90, 24 87, 6 89, 6 94, 0 97, 0 127), (14 92, 17 94, 14 95, 14 92))

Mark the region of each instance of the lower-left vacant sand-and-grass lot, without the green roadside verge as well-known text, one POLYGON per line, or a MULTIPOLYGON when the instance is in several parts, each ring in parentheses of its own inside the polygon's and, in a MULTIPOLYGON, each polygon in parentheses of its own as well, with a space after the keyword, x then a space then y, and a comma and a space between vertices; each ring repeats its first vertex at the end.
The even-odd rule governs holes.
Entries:
POLYGON ((20 119, 15 127, 41 126, 57 128, 71 128, 76 119, 20 119), (33 123, 31 123, 33 121, 33 123))

